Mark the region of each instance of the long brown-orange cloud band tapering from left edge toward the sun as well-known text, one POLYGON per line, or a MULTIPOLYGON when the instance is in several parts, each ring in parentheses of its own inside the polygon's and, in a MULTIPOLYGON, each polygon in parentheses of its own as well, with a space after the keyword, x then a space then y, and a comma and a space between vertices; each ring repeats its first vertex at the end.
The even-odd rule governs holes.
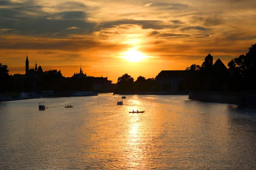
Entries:
POLYGON ((4 50, 62 50, 62 51, 85 51, 89 49, 105 49, 107 51, 119 50, 124 45, 102 42, 92 39, 48 39, 15 37, 15 39, 0 37, 0 49, 4 50))

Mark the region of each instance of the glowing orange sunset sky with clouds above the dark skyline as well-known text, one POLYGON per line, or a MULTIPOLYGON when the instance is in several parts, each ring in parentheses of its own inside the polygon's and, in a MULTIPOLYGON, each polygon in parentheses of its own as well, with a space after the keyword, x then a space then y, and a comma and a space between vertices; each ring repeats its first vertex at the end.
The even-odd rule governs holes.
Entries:
POLYGON ((256 43, 256 0, 0 0, 0 62, 9 74, 41 65, 71 77, 227 63, 256 43))

